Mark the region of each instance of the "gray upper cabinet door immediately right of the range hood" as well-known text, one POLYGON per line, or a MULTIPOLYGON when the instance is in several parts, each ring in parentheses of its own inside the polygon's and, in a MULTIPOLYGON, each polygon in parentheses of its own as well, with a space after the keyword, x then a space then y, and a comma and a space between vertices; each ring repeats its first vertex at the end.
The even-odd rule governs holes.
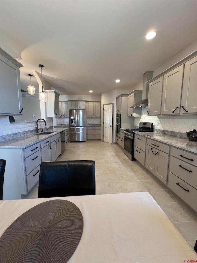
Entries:
POLYGON ((161 114, 161 97, 162 97, 163 76, 149 84, 148 91, 148 114, 161 114))

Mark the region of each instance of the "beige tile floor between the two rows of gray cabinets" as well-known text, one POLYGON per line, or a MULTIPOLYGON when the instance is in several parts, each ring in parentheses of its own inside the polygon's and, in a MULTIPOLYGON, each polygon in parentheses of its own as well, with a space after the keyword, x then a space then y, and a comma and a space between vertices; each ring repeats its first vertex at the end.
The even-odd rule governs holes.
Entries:
MULTIPOLYGON (((58 160, 94 160, 97 195, 148 191, 194 247, 197 214, 139 162, 130 161, 117 144, 69 142, 58 160)), ((38 198, 38 183, 25 198, 38 198)))

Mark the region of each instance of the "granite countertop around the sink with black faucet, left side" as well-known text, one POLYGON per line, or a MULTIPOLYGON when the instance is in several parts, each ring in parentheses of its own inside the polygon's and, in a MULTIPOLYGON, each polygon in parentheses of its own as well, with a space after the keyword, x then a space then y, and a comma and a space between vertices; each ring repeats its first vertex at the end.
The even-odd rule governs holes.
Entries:
POLYGON ((65 128, 54 128, 49 129, 48 131, 53 131, 54 133, 51 134, 29 134, 20 136, 14 139, 5 140, 0 142, 0 150, 1 148, 26 148, 34 143, 40 142, 46 138, 49 138, 55 134, 60 133, 61 131, 66 130, 65 128))

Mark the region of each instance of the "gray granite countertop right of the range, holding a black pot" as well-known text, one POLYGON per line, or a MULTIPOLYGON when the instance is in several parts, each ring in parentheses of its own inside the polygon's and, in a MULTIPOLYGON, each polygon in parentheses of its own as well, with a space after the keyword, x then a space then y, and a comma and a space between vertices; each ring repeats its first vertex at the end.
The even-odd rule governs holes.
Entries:
POLYGON ((155 132, 134 132, 134 133, 197 154, 197 142, 190 142, 188 139, 179 138, 171 135, 158 134, 155 132))

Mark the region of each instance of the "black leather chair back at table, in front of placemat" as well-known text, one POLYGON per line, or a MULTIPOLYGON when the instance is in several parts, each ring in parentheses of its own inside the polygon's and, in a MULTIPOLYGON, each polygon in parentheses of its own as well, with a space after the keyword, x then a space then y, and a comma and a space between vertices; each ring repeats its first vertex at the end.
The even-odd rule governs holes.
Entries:
POLYGON ((95 162, 42 162, 38 198, 74 195, 95 195, 95 162))

